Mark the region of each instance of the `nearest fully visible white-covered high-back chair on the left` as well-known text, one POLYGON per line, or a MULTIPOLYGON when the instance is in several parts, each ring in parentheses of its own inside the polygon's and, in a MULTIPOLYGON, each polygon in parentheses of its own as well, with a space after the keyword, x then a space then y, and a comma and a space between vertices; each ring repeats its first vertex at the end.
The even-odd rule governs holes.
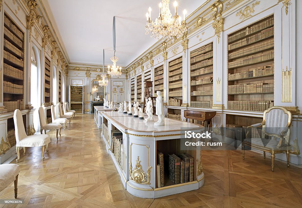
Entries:
POLYGON ((42 160, 44 161, 44 151, 48 152, 48 144, 50 143, 49 135, 38 134, 27 136, 24 128, 23 118, 21 111, 16 109, 14 112, 14 125, 15 125, 15 135, 16 135, 16 150, 17 150, 17 163, 20 159, 20 147, 23 147, 25 155, 25 147, 41 147, 42 146, 42 160))

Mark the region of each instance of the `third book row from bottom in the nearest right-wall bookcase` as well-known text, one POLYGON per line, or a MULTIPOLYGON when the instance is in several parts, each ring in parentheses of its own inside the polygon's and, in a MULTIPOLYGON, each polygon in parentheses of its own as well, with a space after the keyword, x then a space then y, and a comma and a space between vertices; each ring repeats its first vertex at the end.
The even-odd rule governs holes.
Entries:
POLYGON ((233 79, 245 79, 245 78, 253 78, 259 76, 267 76, 274 75, 274 65, 271 66, 262 66, 257 68, 251 68, 249 71, 240 72, 240 73, 229 73, 229 81, 233 79))

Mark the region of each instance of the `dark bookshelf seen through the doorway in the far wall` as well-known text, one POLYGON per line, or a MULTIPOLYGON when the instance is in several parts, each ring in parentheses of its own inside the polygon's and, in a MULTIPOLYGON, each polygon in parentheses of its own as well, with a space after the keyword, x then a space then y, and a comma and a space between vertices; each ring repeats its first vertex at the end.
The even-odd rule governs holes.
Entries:
POLYGON ((83 112, 83 86, 70 86, 70 110, 83 112))

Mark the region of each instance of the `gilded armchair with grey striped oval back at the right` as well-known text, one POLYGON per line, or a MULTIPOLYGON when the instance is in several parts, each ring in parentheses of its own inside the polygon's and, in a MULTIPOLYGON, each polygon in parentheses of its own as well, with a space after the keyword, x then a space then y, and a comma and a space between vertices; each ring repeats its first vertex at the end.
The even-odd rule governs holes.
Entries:
POLYGON ((263 151, 264 158, 265 152, 271 153, 271 171, 274 171, 275 154, 278 153, 286 153, 287 166, 289 167, 291 119, 291 112, 284 107, 274 106, 265 110, 261 123, 247 127, 246 138, 242 142, 243 160, 244 149, 247 146, 263 151), (251 138, 251 136, 249 136, 251 128, 257 127, 262 127, 262 138, 251 138), (277 138, 279 141, 277 141, 277 138))

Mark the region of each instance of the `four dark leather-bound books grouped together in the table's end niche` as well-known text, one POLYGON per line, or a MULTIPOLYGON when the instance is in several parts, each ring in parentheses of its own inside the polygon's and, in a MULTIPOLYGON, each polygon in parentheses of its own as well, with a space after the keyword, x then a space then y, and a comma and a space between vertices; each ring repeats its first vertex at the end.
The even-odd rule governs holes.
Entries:
POLYGON ((194 157, 188 154, 169 154, 169 179, 174 184, 194 180, 194 157))

